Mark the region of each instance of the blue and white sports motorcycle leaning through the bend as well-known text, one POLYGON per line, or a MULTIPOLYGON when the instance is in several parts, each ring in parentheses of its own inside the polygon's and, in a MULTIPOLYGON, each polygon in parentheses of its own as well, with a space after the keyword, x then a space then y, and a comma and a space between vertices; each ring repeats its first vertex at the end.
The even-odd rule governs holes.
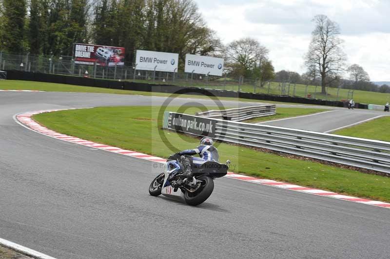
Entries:
POLYGON ((164 172, 157 175, 149 186, 149 194, 160 194, 184 200, 188 205, 196 206, 206 201, 214 190, 214 180, 227 174, 230 161, 220 164, 206 161, 194 165, 192 179, 183 175, 180 155, 171 155, 164 165, 164 172))

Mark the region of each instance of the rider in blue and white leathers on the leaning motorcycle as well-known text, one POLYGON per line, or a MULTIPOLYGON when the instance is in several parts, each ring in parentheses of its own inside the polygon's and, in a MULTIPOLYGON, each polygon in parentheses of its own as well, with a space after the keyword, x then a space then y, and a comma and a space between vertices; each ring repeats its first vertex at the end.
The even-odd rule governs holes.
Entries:
POLYGON ((194 149, 186 149, 176 154, 180 155, 181 163, 184 167, 184 176, 193 177, 192 167, 204 164, 206 161, 219 161, 218 149, 213 146, 213 140, 204 137, 200 140, 200 145, 194 149), (199 154, 199 157, 192 155, 199 154))

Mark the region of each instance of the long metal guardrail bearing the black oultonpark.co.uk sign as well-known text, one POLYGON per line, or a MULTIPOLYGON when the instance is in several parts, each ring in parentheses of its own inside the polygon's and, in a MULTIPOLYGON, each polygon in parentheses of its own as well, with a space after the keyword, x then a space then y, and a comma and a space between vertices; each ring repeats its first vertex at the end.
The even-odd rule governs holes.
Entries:
POLYGON ((390 142, 165 112, 164 128, 390 174, 390 142))

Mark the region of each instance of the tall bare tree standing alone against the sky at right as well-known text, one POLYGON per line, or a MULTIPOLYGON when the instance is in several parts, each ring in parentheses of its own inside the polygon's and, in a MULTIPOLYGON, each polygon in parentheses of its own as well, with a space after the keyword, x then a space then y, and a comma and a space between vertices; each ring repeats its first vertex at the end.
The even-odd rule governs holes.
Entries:
POLYGON ((305 65, 309 74, 321 78, 321 92, 326 93, 326 87, 338 80, 344 71, 346 56, 342 50, 343 40, 339 37, 338 24, 325 15, 316 15, 313 22, 315 29, 305 56, 305 65))

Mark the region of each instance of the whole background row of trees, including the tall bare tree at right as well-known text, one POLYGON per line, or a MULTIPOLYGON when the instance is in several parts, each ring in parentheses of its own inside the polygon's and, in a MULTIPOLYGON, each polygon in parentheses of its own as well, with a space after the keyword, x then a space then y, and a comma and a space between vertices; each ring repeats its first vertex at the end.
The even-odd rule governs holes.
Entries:
POLYGON ((274 73, 269 50, 247 37, 222 44, 193 0, 0 0, 0 51, 12 54, 71 56, 73 43, 126 48, 133 65, 137 49, 225 58, 225 74, 260 82, 276 80, 388 91, 370 82, 364 69, 346 65, 339 25, 317 15, 305 55, 307 72, 274 73), (348 74, 349 77, 343 77, 348 74))

